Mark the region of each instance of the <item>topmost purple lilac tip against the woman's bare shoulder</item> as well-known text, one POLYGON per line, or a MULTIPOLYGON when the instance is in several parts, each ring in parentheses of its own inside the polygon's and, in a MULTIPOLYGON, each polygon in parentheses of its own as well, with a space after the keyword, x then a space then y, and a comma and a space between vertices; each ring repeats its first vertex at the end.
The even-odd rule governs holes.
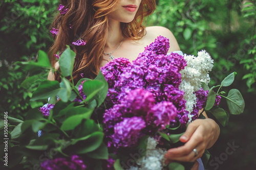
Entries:
POLYGON ((157 55, 166 55, 169 50, 169 39, 159 36, 149 46, 145 47, 145 51, 154 51, 157 55))

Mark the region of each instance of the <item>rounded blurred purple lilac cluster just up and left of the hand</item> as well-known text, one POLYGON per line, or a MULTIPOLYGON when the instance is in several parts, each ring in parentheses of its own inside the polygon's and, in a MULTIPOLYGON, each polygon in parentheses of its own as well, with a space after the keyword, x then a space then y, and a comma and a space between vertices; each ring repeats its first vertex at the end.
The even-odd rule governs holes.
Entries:
MULTIPOLYGON (((166 125, 170 122, 175 122, 177 117, 177 108, 172 102, 163 101, 156 104, 148 111, 146 116, 146 124, 154 124, 156 127, 160 127, 159 130, 165 129, 166 125)), ((154 127, 153 125, 153 127, 154 127)))

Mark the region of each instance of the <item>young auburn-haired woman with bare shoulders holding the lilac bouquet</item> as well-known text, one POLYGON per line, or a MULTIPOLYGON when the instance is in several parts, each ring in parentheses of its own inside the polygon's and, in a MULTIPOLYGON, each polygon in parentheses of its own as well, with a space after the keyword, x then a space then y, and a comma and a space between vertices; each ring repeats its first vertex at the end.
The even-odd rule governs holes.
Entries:
MULTIPOLYGON (((114 58, 135 60, 144 47, 159 35, 169 39, 168 53, 180 53, 179 45, 168 29, 143 26, 143 18, 155 10, 155 0, 62 0, 61 4, 65 7, 59 9, 60 14, 53 23, 53 28, 59 32, 50 50, 51 62, 58 68, 54 54, 65 50, 66 45, 72 45, 77 39, 86 41, 86 45, 72 46, 76 52, 73 70, 75 82, 81 79, 80 74, 94 79, 100 67, 114 58)), ((59 75, 52 72, 48 79, 60 81, 59 75)), ((180 137, 185 144, 169 149, 165 154, 166 162, 195 162, 205 149, 216 142, 219 133, 219 126, 214 120, 195 120, 180 137)), ((197 162, 193 169, 198 167, 197 162)))

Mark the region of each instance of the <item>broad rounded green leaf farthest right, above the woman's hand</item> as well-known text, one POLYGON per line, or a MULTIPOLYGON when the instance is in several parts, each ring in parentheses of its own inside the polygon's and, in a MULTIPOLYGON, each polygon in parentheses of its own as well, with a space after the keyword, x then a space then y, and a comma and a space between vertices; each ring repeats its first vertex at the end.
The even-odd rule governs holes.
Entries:
POLYGON ((238 89, 231 89, 227 95, 227 106, 231 114, 241 114, 244 112, 244 99, 238 89))

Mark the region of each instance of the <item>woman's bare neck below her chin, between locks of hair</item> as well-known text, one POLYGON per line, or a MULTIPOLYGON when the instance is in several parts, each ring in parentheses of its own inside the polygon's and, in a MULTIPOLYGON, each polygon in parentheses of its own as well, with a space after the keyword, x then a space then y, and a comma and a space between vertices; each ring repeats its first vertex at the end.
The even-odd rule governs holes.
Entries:
POLYGON ((120 44, 123 38, 120 22, 109 18, 109 28, 105 48, 115 48, 120 44))

